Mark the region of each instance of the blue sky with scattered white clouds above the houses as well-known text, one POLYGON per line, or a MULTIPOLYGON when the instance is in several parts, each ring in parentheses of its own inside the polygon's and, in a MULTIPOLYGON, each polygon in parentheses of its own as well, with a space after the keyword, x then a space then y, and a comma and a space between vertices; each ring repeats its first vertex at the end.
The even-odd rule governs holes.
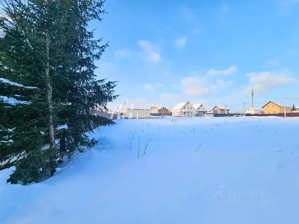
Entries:
POLYGON ((299 0, 107 0, 104 8, 90 27, 109 41, 95 73, 119 81, 111 109, 125 98, 212 109, 250 103, 251 87, 254 107, 299 97, 299 0))

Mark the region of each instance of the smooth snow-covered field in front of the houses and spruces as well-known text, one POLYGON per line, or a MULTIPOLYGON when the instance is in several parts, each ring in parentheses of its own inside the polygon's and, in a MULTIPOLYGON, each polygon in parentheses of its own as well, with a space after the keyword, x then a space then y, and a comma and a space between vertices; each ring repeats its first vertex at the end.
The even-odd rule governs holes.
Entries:
POLYGON ((117 123, 44 182, 1 171, 0 223, 298 223, 299 119, 117 123))

